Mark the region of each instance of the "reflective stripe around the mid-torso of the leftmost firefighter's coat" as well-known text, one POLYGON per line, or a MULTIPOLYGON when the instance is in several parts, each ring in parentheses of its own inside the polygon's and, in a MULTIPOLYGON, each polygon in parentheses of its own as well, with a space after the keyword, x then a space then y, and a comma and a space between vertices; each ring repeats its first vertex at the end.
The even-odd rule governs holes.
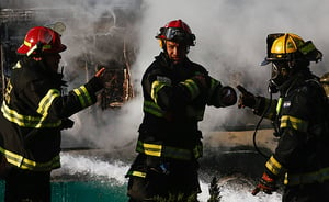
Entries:
POLYGON ((15 110, 11 110, 4 101, 2 102, 1 112, 8 121, 18 124, 21 127, 57 127, 61 124, 60 120, 57 122, 47 122, 44 117, 22 115, 15 110))

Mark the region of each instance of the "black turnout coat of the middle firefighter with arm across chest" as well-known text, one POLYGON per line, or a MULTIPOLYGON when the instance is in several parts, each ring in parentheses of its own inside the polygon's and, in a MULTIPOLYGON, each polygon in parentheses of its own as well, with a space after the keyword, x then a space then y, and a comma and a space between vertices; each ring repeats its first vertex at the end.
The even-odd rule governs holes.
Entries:
MULTIPOLYGON (((141 86, 144 119, 136 152, 147 157, 146 167, 166 171, 159 167, 163 159, 195 161, 200 158, 203 147, 197 123, 203 120, 206 105, 227 106, 220 99, 222 83, 189 58, 173 65, 160 53, 145 71, 141 86), (207 87, 195 79, 200 75, 207 87)), ((128 176, 145 178, 147 170, 143 166, 141 170, 136 169, 138 164, 137 158, 128 176)))

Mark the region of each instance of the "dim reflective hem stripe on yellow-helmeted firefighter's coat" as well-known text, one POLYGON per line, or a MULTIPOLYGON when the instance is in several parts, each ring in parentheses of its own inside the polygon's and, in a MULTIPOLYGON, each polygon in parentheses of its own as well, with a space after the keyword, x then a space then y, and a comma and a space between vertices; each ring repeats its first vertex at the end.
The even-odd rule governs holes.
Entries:
POLYGON ((297 186, 306 183, 322 183, 329 180, 329 167, 322 168, 320 170, 300 175, 285 175, 284 184, 286 186, 297 186))

